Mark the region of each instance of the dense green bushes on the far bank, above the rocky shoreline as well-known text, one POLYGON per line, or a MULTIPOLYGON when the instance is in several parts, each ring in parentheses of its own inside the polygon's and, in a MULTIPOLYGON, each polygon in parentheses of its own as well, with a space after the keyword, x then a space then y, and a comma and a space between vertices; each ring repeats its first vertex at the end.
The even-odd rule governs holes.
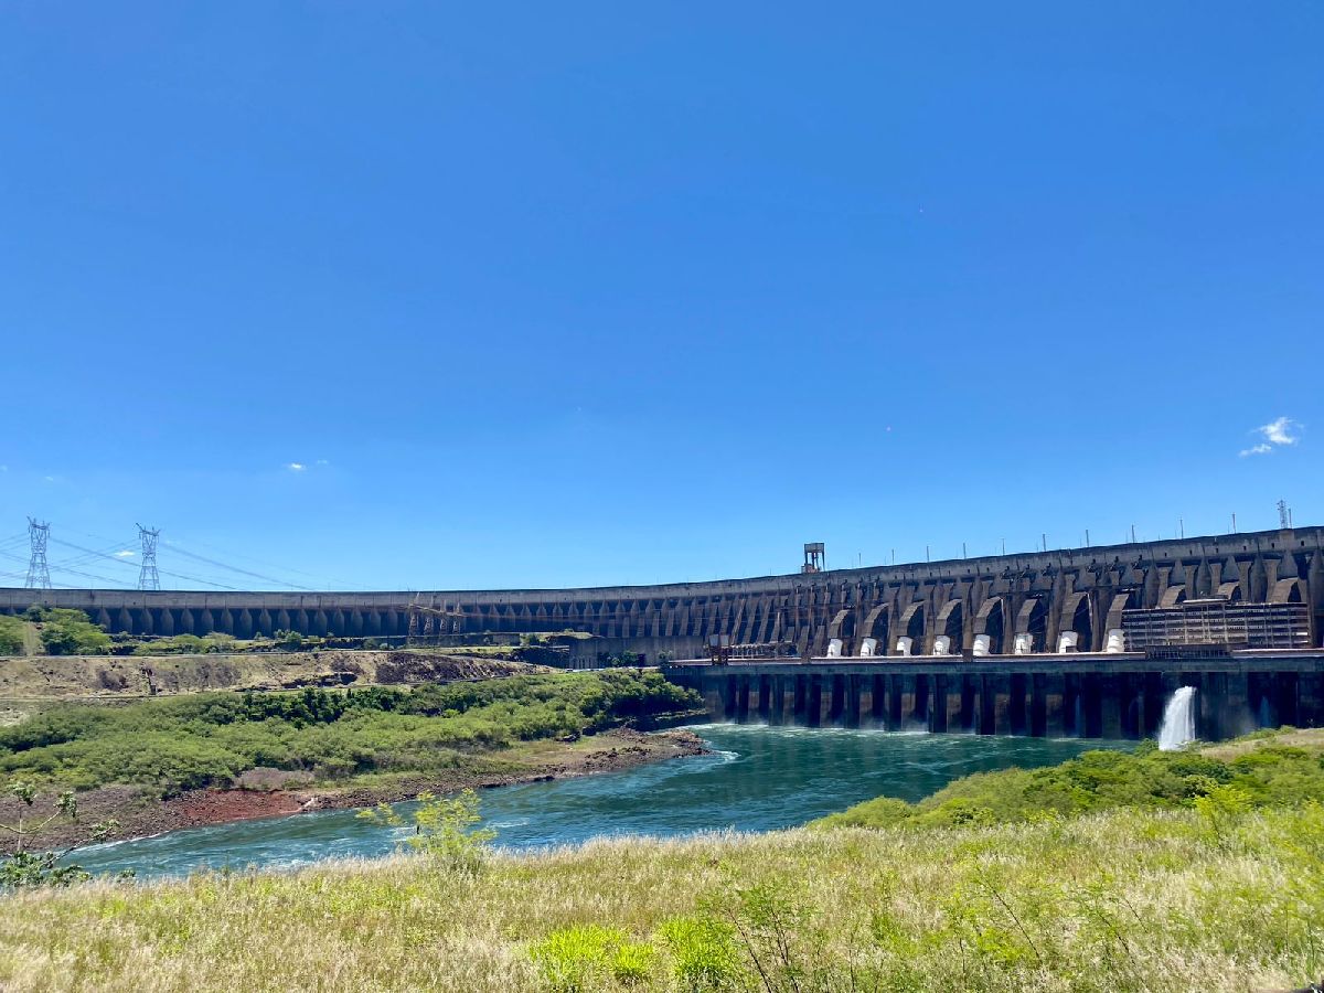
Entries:
POLYGON ((0 728, 0 775, 68 789, 228 785, 248 769, 482 771, 520 741, 573 737, 698 706, 657 673, 528 675, 414 690, 199 694, 57 704, 0 728))

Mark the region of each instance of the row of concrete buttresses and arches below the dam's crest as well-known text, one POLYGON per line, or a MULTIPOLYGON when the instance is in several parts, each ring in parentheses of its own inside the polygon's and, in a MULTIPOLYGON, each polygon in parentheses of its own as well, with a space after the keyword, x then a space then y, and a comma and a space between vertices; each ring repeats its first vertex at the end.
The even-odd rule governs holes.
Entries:
MULTIPOLYGON (((1107 630, 1115 626, 1119 597, 1125 606, 1145 608, 1213 596, 1253 602, 1300 600, 1311 605, 1312 624, 1319 628, 1324 618, 1324 553, 1317 544, 1307 548, 1296 539, 1291 548, 1275 549, 1280 539, 1276 534, 1263 540, 1235 536, 1227 543, 1235 540, 1239 552, 1198 559, 1145 559, 1145 553, 1161 549, 1135 548, 1131 561, 1012 557, 984 563, 970 573, 949 565, 928 573, 923 567, 903 567, 695 584, 685 591, 601 591, 608 596, 593 596, 596 591, 422 596, 429 597, 426 609, 437 633, 573 629, 626 639, 728 634, 739 643, 790 642, 802 655, 821 655, 833 638, 842 641, 847 654, 858 654, 865 638, 875 639, 879 654, 892 654, 898 637, 910 638, 912 654, 931 651, 939 638, 947 638, 951 650, 959 651, 973 647, 976 637, 986 639, 990 651, 1005 654, 1017 636, 1031 638, 1034 650, 1042 651, 1051 650, 1059 633, 1074 632, 1082 650, 1099 650, 1107 630), (1245 553, 1247 548, 1250 553, 1245 553)), ((1213 545, 1211 551, 1218 552, 1218 542, 1213 545)), ((5 609, 25 609, 32 601, 17 596, 23 593, 12 591, 5 596, 5 609)), ((346 594, 336 602, 338 597, 70 591, 42 602, 77 606, 111 630, 136 634, 221 630, 244 637, 290 629, 402 636, 410 630, 406 594, 346 594), (82 596, 86 601, 79 602, 82 596), (119 605, 117 600, 127 602, 119 605), (187 605, 179 606, 181 601, 187 605)))

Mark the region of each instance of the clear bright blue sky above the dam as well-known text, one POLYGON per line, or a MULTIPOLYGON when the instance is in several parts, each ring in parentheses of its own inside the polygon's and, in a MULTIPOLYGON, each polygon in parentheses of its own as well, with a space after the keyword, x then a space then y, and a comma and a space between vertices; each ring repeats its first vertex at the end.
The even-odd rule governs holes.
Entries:
POLYGON ((12 0, 0 573, 28 514, 316 588, 1320 523, 1321 49, 1304 0, 12 0))

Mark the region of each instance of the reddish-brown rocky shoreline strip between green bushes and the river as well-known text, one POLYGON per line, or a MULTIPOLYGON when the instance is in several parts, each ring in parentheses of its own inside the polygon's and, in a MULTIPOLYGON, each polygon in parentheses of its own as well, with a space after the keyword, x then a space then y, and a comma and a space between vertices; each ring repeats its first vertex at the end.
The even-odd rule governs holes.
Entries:
MULTIPOLYGON (((271 788, 191 789, 162 798, 146 786, 111 785, 78 794, 75 824, 56 822, 32 835, 28 847, 58 850, 83 842, 93 825, 106 820, 119 824, 114 839, 142 838, 184 828, 207 828, 266 817, 291 817, 311 810, 344 810, 373 804, 413 800, 425 790, 451 793, 461 789, 508 786, 519 782, 624 772, 649 763, 707 755, 708 749, 690 731, 639 732, 614 728, 585 735, 575 741, 534 741, 499 759, 475 759, 467 768, 430 775, 359 776, 344 784, 279 785, 289 780, 279 771, 263 769, 250 776, 271 788)), ((30 820, 54 812, 54 797, 38 798, 30 820)), ((0 822, 12 824, 21 813, 17 800, 0 800, 0 822)), ((11 851, 9 838, 0 838, 0 851, 11 851)))

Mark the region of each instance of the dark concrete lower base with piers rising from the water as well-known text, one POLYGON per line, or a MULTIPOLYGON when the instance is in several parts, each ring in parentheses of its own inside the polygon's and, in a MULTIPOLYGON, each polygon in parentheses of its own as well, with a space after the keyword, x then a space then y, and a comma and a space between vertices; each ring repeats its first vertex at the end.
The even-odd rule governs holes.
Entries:
POLYGON ((1166 700, 1197 690, 1197 732, 1324 726, 1324 651, 1246 650, 985 655, 907 659, 752 659, 663 666, 699 690, 715 718, 805 727, 878 727, 1033 737, 1152 737, 1166 700), (751 687, 757 707, 751 712, 751 687), (784 690, 780 687, 785 687, 784 690), (785 708, 790 700, 789 715, 785 708))

